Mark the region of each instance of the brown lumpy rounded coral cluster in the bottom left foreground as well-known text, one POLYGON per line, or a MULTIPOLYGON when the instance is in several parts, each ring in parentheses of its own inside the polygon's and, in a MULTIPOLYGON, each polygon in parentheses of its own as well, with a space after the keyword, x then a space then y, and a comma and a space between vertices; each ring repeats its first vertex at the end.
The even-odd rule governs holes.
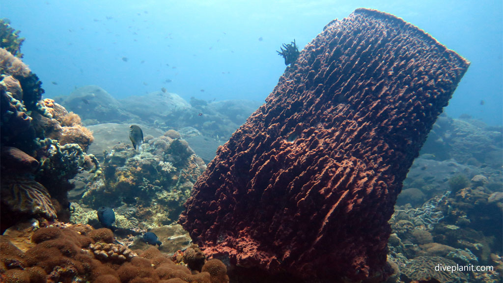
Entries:
POLYGON ((202 271, 190 270, 155 248, 137 256, 124 246, 102 243, 103 238, 93 240, 92 228, 62 226, 36 230, 28 237, 35 245, 26 251, 2 236, 2 282, 228 282, 219 260, 204 263, 202 271))

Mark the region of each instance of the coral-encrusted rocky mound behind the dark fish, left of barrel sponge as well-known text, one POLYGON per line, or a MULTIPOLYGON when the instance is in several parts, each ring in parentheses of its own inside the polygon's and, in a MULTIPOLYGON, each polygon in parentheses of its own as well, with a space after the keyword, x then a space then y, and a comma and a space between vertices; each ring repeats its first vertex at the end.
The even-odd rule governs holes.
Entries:
POLYGON ((131 145, 116 145, 105 156, 103 176, 88 185, 81 202, 91 207, 135 207, 135 216, 145 219, 139 228, 169 225, 178 219, 193 183, 206 169, 183 139, 145 136, 143 151, 131 145))

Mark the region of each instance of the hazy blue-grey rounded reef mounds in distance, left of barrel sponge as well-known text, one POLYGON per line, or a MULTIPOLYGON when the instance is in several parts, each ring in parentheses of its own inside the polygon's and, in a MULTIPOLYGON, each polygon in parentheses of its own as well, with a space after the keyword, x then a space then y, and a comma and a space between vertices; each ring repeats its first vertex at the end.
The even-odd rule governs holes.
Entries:
MULTIPOLYGON (((198 99, 191 99, 189 104, 176 94, 160 91, 116 100, 98 86, 78 88, 69 96, 55 98, 55 102, 78 114, 95 134, 100 137, 107 136, 107 140, 101 139, 100 143, 108 144, 109 148, 102 147, 90 152, 96 156, 101 155, 103 150, 110 152, 117 144, 112 141, 120 141, 120 133, 115 135, 109 131, 101 132, 105 127, 116 130, 111 127, 114 123, 127 123, 127 127, 134 123, 140 125, 144 133, 148 132, 149 125, 152 129, 150 134, 153 136, 158 135, 154 134, 153 130, 159 130, 162 134, 167 130, 177 129, 182 134, 185 127, 197 128, 198 136, 190 136, 193 137, 192 140, 189 140, 189 135, 186 134, 178 137, 186 139, 206 162, 215 157, 218 146, 225 143, 232 132, 246 121, 249 114, 262 105, 258 101, 208 102, 198 99)), ((95 143, 93 147, 100 143, 95 143)))

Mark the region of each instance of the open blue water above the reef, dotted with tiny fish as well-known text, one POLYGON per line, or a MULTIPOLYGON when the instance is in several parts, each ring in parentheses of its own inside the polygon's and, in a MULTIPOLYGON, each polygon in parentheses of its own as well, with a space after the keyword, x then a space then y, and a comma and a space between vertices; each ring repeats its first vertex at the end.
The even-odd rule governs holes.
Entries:
POLYGON ((2 0, 0 16, 26 38, 24 61, 44 83, 44 97, 93 84, 116 98, 165 87, 187 100, 262 101, 285 69, 276 53, 282 43, 295 38, 300 49, 359 7, 403 18, 470 60, 447 113, 501 125, 500 0, 2 0))

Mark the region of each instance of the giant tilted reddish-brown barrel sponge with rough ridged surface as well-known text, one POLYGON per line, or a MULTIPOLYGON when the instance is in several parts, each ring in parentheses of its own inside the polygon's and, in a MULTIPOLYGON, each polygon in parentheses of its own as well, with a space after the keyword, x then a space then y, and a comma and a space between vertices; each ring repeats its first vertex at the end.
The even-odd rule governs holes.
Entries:
POLYGON ((237 266, 383 279, 402 181, 468 66, 386 13, 330 22, 218 149, 179 222, 237 266))

